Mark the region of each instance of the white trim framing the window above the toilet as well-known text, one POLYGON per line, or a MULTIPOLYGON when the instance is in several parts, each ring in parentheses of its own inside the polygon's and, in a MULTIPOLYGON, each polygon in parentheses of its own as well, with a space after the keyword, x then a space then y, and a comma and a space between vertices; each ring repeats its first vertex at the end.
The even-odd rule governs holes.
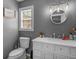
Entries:
POLYGON ((34 6, 28 6, 28 7, 22 7, 19 8, 19 31, 34 31, 34 6), (25 9, 32 9, 32 29, 23 29, 21 28, 21 10, 25 10, 25 9))

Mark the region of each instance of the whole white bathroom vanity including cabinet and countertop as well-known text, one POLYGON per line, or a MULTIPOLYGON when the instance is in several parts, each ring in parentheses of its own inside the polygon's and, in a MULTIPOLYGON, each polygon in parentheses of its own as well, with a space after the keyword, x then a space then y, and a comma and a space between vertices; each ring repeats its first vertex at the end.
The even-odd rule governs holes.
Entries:
POLYGON ((35 38, 33 59, 76 59, 76 41, 57 38, 35 38))

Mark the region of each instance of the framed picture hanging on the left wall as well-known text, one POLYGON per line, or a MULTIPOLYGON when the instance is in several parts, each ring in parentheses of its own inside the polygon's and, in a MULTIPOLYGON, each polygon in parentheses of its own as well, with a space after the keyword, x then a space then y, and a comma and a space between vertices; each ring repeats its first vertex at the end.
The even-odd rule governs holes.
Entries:
POLYGON ((3 8, 3 16, 5 18, 15 18, 16 17, 16 11, 9 9, 9 8, 3 8))

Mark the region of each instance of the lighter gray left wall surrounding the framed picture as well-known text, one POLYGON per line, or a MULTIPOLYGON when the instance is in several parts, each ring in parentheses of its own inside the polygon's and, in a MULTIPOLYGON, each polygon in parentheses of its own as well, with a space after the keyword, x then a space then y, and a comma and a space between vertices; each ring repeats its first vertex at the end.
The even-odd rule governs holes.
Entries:
POLYGON ((18 5, 15 0, 3 0, 3 7, 16 10, 16 18, 3 18, 3 58, 6 59, 18 36, 18 5))

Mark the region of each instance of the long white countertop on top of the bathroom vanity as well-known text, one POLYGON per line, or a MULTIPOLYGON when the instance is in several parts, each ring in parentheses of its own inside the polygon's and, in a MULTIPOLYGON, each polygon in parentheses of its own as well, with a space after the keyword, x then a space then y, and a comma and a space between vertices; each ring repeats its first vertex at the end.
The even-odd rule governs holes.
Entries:
POLYGON ((37 37, 33 41, 64 45, 64 46, 69 46, 69 47, 76 47, 75 40, 62 40, 62 39, 50 38, 50 37, 44 37, 44 38, 37 37))

